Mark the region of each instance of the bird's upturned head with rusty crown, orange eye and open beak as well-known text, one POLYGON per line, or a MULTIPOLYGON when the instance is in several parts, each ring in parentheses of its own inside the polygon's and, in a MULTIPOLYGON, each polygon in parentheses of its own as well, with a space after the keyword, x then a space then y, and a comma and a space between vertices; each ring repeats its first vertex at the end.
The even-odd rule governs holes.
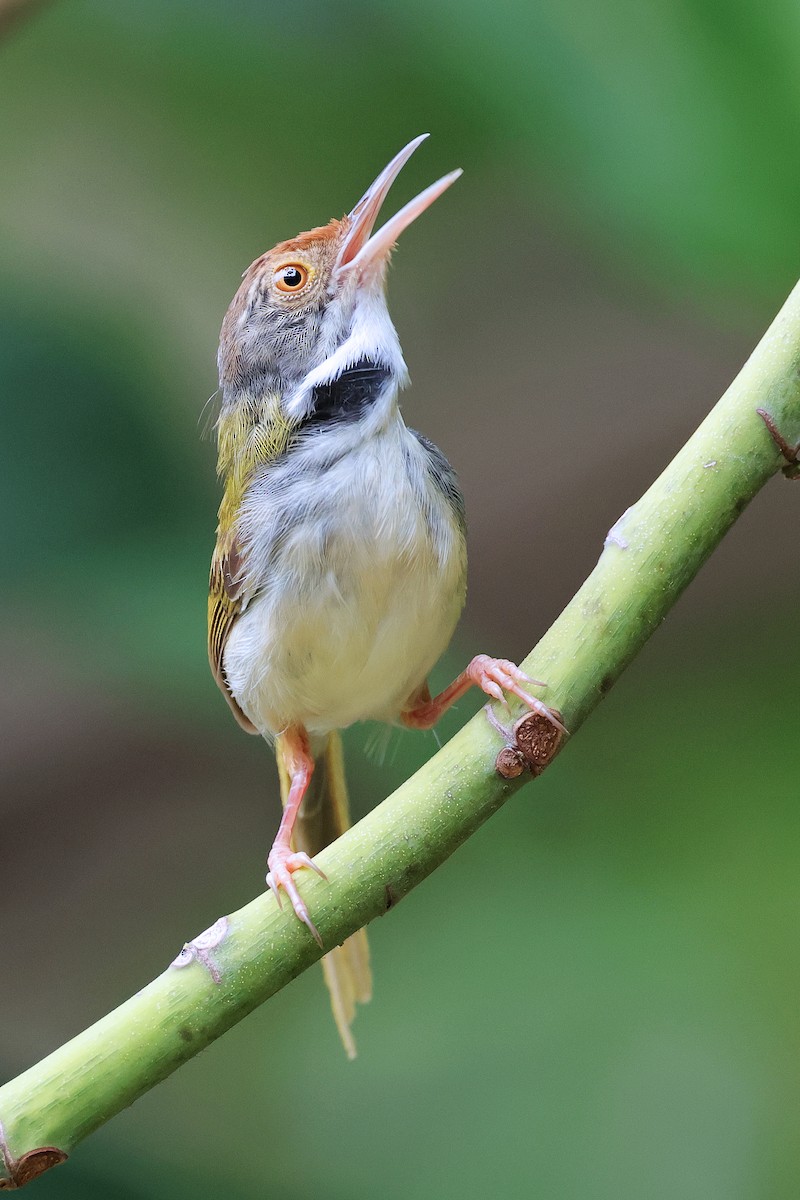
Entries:
POLYGON ((302 420, 314 389, 362 362, 397 383, 405 364, 386 308, 385 276, 403 229, 461 175, 432 184, 373 233, 389 188, 427 134, 392 158, 341 221, 279 242, 257 258, 225 314, 219 382, 225 402, 265 390, 302 420))

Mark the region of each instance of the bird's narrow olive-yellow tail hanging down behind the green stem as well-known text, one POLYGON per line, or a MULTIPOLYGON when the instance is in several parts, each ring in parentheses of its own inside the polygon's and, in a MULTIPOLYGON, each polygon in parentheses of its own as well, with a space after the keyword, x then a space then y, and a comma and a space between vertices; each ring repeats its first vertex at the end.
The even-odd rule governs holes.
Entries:
MULTIPOLYGON (((285 804, 289 794, 289 773, 278 754, 281 775, 281 800, 285 804)), ((294 828, 295 850, 318 854, 350 828, 342 738, 329 733, 325 749, 317 757, 314 774, 303 797, 294 828)), ((348 937, 323 959, 325 983, 331 995, 333 1020, 348 1058, 355 1058, 356 1049, 350 1026, 355 1018, 355 1006, 372 1000, 372 972, 369 971, 369 946, 366 929, 348 937)))

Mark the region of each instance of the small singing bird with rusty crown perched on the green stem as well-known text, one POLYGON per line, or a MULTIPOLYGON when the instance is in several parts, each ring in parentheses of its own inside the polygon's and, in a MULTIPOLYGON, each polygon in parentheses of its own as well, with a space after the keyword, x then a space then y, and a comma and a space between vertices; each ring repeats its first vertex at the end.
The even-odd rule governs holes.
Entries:
MULTIPOLYGON (((438 696, 427 683, 464 605, 464 498, 444 454, 403 420, 408 370, 386 271, 403 230, 462 172, 374 232, 426 137, 349 214, 257 258, 219 337, 209 660, 242 728, 275 746, 283 815, 266 883, 320 947, 296 876, 323 875, 313 856, 349 826, 342 730, 431 728, 473 685, 561 728, 530 695, 539 682, 510 660, 479 654, 438 696)), ((355 1004, 372 994, 365 931, 329 949, 323 967, 353 1057, 355 1004)))

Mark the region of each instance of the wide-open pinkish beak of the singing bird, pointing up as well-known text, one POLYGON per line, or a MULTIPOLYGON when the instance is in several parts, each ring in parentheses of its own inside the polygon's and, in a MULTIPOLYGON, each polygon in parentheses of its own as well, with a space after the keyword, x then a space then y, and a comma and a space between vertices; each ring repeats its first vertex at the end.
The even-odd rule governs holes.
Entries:
POLYGON ((449 175, 437 180, 435 184, 431 184, 431 187, 426 187, 423 192, 409 200, 399 212, 383 224, 378 233, 372 233, 389 188, 416 148, 427 137, 427 133, 421 133, 419 138, 414 138, 399 154, 395 155, 353 209, 348 218, 351 226, 339 251, 337 271, 357 270, 361 276, 378 271, 386 262, 403 229, 416 221, 421 212, 425 212, 451 184, 456 182, 461 170, 452 170, 449 175))

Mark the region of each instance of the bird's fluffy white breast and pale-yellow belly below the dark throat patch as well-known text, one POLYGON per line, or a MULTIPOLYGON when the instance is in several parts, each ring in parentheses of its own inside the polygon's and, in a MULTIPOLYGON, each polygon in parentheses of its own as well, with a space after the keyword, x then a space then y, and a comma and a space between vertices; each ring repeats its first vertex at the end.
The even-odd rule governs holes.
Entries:
POLYGON ((253 480, 237 529, 247 600, 224 670, 263 733, 392 719, 425 680, 465 586, 443 464, 398 418, 368 438, 315 431, 253 480))

